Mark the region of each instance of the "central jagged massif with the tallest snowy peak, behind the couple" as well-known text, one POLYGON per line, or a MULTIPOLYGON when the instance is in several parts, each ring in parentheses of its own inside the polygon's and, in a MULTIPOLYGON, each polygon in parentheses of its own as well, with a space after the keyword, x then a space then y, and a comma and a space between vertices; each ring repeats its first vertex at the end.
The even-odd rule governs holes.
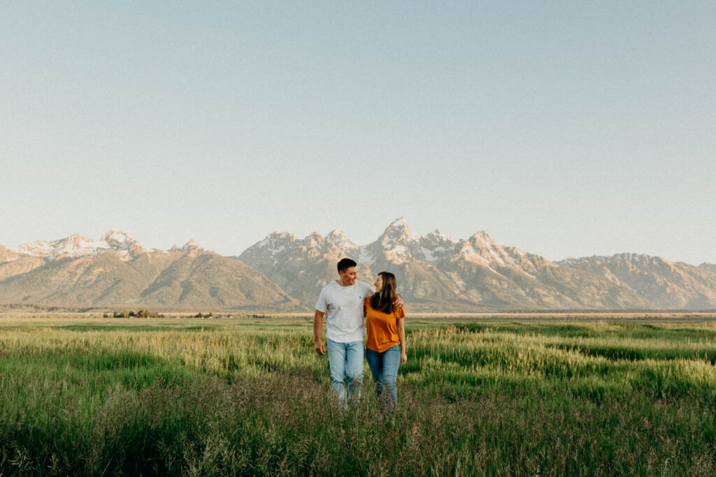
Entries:
POLYGON ((438 230, 416 237, 403 219, 361 247, 338 231, 303 240, 284 232, 269 235, 239 258, 312 307, 321 287, 337 278, 341 257, 356 260, 359 279, 370 283, 378 272, 395 273, 408 303, 435 311, 650 306, 628 287, 498 245, 484 231, 458 241, 438 230))

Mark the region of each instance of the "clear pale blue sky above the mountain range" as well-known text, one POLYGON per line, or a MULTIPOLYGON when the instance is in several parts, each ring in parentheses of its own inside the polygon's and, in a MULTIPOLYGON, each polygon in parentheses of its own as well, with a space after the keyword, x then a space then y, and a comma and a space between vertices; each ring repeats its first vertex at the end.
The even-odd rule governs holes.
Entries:
POLYGON ((716 2, 0 5, 0 243, 716 263, 716 2))

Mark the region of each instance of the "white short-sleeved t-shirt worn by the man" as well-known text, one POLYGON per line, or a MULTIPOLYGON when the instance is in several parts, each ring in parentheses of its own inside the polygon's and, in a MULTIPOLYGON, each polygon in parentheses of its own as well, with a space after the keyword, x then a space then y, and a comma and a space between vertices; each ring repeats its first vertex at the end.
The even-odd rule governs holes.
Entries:
POLYGON ((338 343, 362 341, 363 302, 373 291, 372 286, 360 281, 347 287, 333 281, 323 287, 316 310, 326 313, 326 338, 338 343))

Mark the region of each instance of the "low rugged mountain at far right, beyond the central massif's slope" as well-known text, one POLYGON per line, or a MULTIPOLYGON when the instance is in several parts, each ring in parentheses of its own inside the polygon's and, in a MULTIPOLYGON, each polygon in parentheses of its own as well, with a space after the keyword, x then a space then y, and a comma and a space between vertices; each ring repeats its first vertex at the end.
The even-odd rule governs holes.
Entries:
POLYGON ((567 259, 558 263, 628 287, 654 308, 716 308, 716 266, 707 263, 695 267, 635 253, 567 259))

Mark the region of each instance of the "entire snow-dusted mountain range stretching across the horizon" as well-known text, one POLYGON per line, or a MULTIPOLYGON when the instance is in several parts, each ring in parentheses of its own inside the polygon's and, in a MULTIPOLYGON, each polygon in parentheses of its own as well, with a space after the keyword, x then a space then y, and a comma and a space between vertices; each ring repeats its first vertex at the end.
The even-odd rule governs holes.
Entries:
POLYGON ((485 231, 416 236, 402 218, 368 245, 339 230, 303 239, 274 232, 238 257, 193 241, 150 250, 120 230, 0 245, 0 303, 307 311, 342 257, 356 260, 364 281, 395 273, 412 310, 716 308, 716 265, 631 253, 551 262, 485 231))

